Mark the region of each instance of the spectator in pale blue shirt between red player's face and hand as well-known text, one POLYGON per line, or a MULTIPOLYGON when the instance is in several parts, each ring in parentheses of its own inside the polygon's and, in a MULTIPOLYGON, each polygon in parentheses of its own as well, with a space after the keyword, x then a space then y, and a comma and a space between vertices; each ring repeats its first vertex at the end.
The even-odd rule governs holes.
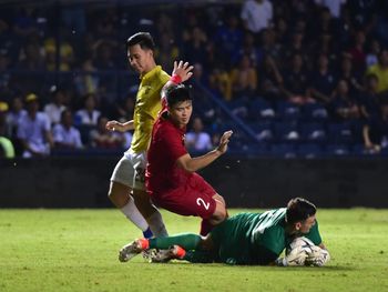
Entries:
POLYGON ((192 131, 185 135, 185 144, 188 150, 193 151, 208 151, 212 149, 211 135, 203 131, 203 122, 201 118, 196 117, 193 120, 192 131))

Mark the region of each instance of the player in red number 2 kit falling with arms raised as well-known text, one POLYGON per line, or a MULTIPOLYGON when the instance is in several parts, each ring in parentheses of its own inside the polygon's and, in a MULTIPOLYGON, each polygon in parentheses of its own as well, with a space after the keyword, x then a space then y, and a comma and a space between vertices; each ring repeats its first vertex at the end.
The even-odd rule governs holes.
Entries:
MULTIPOLYGON (((187 67, 174 63, 174 72, 187 67)), ((226 152, 233 132, 226 131, 215 150, 197 158, 188 154, 184 135, 193 111, 192 98, 184 84, 173 84, 178 81, 174 77, 182 77, 174 72, 164 91, 166 104, 153 128, 145 184, 157 205, 181 215, 201 217, 201 234, 205 235, 227 218, 227 212, 224 199, 195 171, 226 152)))

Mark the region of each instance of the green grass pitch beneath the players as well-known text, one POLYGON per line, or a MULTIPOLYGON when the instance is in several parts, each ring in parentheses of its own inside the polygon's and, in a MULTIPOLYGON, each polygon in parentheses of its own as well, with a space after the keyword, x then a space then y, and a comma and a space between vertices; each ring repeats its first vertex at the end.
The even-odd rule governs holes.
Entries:
MULTIPOLYGON (((171 234, 198 231, 196 218, 163 217, 171 234)), ((317 218, 327 266, 228 266, 120 263, 119 249, 140 232, 113 209, 0 209, 0 291, 388 291, 388 211, 317 218)))

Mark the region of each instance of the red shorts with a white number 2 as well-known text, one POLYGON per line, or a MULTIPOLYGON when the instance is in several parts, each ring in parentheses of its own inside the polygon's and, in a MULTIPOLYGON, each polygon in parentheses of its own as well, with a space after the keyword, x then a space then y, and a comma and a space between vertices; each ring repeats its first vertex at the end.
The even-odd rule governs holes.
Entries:
POLYGON ((212 198, 214 194, 216 191, 201 175, 194 173, 186 185, 169 192, 155 192, 152 201, 176 214, 210 219, 216 205, 212 198))

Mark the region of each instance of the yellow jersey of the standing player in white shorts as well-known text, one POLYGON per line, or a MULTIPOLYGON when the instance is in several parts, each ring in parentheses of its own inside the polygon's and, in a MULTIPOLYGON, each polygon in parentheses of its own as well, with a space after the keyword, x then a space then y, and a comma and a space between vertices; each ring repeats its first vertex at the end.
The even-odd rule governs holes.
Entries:
POLYGON ((160 66, 141 77, 133 113, 134 133, 131 143, 131 150, 135 153, 149 149, 152 127, 162 109, 161 90, 169 79, 170 75, 160 66))

